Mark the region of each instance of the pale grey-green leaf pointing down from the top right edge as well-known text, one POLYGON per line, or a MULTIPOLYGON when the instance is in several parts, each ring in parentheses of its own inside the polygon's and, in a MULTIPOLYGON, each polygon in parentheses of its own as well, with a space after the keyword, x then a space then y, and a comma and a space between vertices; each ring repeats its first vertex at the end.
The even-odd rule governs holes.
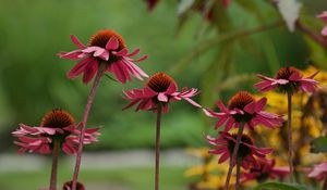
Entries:
POLYGON ((302 4, 296 0, 278 0, 277 7, 289 30, 293 33, 302 4))

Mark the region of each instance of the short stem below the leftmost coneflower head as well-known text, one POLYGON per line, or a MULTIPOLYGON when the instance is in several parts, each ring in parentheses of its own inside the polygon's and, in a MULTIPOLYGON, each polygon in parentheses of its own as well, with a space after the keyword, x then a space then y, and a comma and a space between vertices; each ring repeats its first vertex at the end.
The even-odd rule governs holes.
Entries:
POLYGON ((53 149, 52 149, 52 168, 51 168, 49 190, 57 190, 57 174, 58 174, 59 152, 60 152, 60 140, 55 139, 53 140, 53 149))

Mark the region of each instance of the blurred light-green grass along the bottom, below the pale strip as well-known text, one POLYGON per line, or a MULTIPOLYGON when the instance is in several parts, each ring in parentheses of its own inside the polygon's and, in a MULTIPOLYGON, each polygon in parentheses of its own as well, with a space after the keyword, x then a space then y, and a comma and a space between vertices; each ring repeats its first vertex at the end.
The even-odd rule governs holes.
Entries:
MULTIPOLYGON (((48 164, 48 166, 50 163, 48 164)), ((183 178, 183 167, 162 167, 161 188, 169 190, 186 190, 183 178), (165 182, 169 181, 169 182, 165 182)), ((58 186, 71 178, 72 168, 66 164, 62 164, 59 168, 58 186)), ((109 169, 82 169, 80 179, 86 189, 98 190, 108 189, 133 189, 144 190, 153 186, 153 168, 135 167, 135 168, 109 168, 109 169), (137 177, 135 177, 137 176, 137 177)), ((3 190, 35 190, 36 187, 47 187, 49 170, 33 172, 0 172, 0 189, 3 190), (17 179, 20 182, 17 182, 17 179)))

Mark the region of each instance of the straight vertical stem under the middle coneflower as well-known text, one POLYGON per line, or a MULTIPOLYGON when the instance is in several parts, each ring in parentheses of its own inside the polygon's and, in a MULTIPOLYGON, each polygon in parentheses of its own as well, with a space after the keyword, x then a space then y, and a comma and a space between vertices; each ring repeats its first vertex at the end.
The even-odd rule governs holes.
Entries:
POLYGON ((157 106, 155 190, 159 190, 161 113, 162 113, 162 106, 159 103, 157 106))

